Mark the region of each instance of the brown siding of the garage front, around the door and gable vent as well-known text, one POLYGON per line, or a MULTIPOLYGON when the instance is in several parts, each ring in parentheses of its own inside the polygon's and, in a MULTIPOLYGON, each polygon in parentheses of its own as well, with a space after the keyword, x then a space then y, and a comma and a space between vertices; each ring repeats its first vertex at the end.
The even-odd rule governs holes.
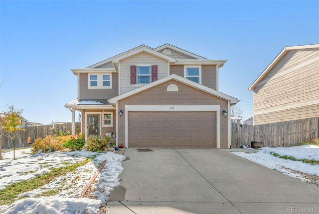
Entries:
MULTIPOLYGON (((118 109, 125 112, 126 105, 219 105, 220 109, 228 109, 228 101, 201 90, 170 80, 146 91, 118 101, 118 109), (175 84, 176 92, 167 92, 167 86, 175 84)), ((118 118, 118 143, 125 144, 125 117, 118 118)), ((228 120, 220 116, 220 147, 228 148, 228 120)))

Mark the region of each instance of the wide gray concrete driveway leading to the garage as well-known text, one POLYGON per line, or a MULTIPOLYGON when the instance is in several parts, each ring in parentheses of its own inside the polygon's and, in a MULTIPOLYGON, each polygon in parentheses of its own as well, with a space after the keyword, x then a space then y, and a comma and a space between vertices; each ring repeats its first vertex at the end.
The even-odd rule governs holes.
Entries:
POLYGON ((319 213, 319 188, 225 150, 128 148, 125 155, 108 214, 319 213))

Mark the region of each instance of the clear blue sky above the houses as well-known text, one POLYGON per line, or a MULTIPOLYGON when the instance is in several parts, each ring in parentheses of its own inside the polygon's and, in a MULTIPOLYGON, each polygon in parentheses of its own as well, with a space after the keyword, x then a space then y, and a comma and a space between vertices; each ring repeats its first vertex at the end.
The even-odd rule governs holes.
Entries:
POLYGON ((319 1, 0 1, 0 111, 70 122, 70 69, 141 44, 228 60, 219 90, 253 115, 248 87, 285 46, 319 43, 319 1))

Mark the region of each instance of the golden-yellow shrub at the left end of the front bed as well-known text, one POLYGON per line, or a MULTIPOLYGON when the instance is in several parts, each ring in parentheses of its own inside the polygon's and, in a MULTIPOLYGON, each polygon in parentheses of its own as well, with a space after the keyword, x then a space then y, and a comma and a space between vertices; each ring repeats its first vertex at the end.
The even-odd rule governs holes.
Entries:
POLYGON ((34 140, 34 143, 31 144, 31 152, 35 153, 39 149, 42 149, 43 152, 51 151, 51 148, 54 150, 62 150, 63 143, 70 140, 71 136, 46 136, 45 138, 37 138, 34 140))

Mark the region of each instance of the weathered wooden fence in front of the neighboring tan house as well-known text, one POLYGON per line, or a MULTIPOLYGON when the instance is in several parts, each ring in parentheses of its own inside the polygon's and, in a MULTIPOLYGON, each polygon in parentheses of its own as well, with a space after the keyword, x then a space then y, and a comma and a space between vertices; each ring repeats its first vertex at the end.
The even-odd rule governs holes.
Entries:
POLYGON ((319 117, 251 126, 231 124, 231 147, 262 141, 264 146, 293 146, 319 139, 319 117))

